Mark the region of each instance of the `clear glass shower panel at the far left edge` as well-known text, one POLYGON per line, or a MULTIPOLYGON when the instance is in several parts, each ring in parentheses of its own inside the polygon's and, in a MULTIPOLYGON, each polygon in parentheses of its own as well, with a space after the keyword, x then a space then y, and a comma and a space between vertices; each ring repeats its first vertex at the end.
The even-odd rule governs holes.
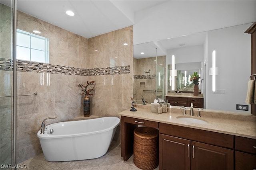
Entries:
MULTIPOLYGON (((1 3, 1 1, 0 1, 1 3)), ((13 156, 13 11, 0 4, 0 164, 1 169, 9 169, 13 156)))

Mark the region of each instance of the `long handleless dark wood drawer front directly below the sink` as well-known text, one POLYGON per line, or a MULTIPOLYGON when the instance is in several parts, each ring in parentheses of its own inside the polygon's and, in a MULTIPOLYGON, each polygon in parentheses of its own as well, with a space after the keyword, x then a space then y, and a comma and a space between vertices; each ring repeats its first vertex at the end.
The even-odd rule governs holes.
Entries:
POLYGON ((159 123, 159 133, 234 149, 234 136, 190 127, 159 123))

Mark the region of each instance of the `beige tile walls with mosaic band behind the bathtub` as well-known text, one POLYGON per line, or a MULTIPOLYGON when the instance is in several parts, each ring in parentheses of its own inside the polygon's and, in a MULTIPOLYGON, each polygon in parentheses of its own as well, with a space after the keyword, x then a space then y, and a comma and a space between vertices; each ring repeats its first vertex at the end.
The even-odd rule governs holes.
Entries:
MULTIPOLYGON (((18 162, 22 162, 42 152, 36 133, 44 118, 56 116, 48 120, 54 123, 83 115, 78 84, 96 80, 92 115, 118 116, 130 107, 133 27, 86 39, 28 14, 17 15, 18 29, 32 32, 36 27, 50 41, 49 64, 18 61, 17 93, 37 92, 17 98, 18 162)), ((1 70, 1 77, 2 72, 6 71, 1 70)), ((120 140, 120 128, 114 140, 120 140)))

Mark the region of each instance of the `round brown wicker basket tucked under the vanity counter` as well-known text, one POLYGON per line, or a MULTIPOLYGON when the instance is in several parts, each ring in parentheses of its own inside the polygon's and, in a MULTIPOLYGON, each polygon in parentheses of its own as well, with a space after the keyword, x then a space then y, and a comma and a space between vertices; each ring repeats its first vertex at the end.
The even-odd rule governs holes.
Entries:
POLYGON ((133 162, 142 170, 158 166, 158 129, 138 127, 134 130, 133 162))

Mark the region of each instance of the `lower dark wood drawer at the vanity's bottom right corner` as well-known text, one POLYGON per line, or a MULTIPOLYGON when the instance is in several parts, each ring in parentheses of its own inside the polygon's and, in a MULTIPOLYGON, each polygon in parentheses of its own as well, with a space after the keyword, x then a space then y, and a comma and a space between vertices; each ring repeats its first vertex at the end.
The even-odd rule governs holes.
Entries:
POLYGON ((235 170, 255 170, 256 156, 235 151, 235 170))

